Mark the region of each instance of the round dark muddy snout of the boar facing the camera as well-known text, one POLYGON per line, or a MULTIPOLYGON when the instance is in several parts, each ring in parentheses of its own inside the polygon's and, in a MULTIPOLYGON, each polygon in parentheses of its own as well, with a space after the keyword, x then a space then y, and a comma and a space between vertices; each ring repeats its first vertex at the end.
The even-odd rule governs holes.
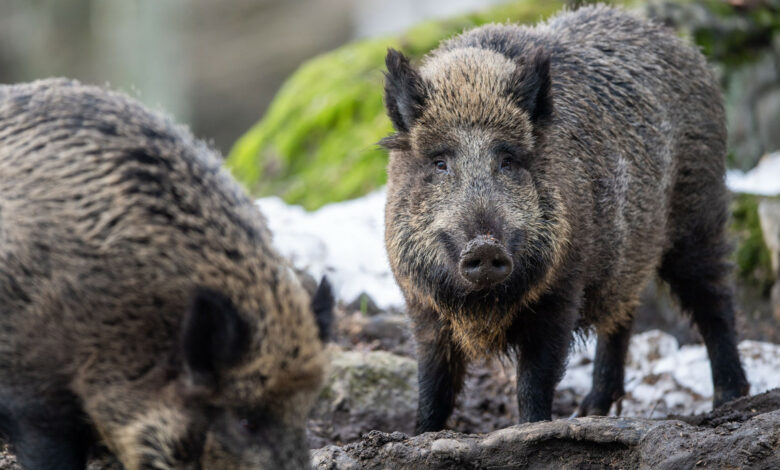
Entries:
POLYGON ((512 258, 493 237, 480 235, 466 244, 460 254, 460 274, 477 289, 504 281, 512 274, 512 258))

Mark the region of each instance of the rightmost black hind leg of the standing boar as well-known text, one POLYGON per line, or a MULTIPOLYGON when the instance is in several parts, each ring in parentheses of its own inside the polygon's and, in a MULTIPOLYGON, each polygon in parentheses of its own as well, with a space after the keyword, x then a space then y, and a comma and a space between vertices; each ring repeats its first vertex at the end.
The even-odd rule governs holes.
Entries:
MULTIPOLYGON (((683 239, 664 255, 661 277, 669 283, 699 328, 712 369, 713 406, 747 395, 750 384, 739 360, 734 327, 734 293, 729 284, 726 241, 707 233, 683 239)), ((710 232, 712 233, 712 232, 710 232)), ((723 235, 717 237, 725 238, 723 235)))

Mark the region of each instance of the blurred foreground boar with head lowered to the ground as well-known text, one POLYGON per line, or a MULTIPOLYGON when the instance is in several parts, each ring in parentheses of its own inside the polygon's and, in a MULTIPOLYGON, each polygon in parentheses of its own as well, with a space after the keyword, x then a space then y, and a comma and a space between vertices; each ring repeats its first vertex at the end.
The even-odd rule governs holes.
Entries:
POLYGON ((300 469, 310 296, 205 144, 117 93, 0 87, 0 431, 24 468, 300 469))

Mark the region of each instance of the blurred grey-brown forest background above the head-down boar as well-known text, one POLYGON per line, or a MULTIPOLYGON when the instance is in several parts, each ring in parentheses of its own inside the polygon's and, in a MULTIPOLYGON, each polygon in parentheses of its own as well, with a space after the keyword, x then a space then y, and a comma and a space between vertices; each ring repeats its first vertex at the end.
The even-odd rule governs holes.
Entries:
POLYGON ((0 83, 108 83, 227 153, 310 57, 499 2, 0 0, 0 83))

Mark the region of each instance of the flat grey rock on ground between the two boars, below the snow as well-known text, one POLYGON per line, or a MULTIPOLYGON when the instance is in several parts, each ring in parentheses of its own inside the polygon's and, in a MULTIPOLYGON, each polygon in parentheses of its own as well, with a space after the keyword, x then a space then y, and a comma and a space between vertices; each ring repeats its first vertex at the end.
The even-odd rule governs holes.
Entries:
POLYGON ((310 444, 348 442, 372 429, 414 430, 416 361, 336 347, 330 356, 330 374, 310 417, 310 444))

